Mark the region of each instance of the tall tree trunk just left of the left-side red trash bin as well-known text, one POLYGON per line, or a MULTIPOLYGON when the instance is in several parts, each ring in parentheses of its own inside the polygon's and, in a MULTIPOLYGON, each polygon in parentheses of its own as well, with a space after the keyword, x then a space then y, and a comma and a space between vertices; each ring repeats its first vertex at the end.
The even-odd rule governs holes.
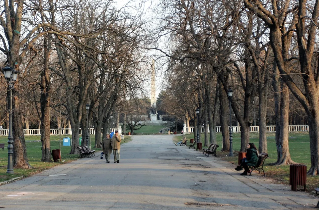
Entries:
POLYGON ((50 70, 49 70, 49 57, 50 57, 50 44, 44 39, 44 66, 41 73, 41 144, 42 144, 42 157, 41 161, 51 162, 51 148, 50 148, 50 70))

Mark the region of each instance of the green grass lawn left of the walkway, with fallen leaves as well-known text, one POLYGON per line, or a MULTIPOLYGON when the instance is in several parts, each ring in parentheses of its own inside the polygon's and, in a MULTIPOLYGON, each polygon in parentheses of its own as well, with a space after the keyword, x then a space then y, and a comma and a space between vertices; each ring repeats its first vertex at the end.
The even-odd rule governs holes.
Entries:
MULTIPOLYGON (((80 135, 81 136, 81 135, 80 135)), ((61 159, 64 162, 50 162, 45 163, 41 162, 41 141, 40 136, 25 136, 26 140, 26 151, 28 155, 29 164, 33 167, 32 169, 17 169, 14 168, 14 174, 7 174, 7 163, 8 163, 8 149, 6 148, 8 146, 8 137, 6 136, 0 136, 0 143, 5 143, 4 150, 0 149, 0 182, 3 182, 5 180, 9 180, 14 177, 27 177, 32 174, 41 172, 42 170, 52 168, 54 166, 69 163, 72 160, 76 160, 79 158, 79 155, 70 155, 70 146, 63 146, 63 138, 64 137, 70 137, 71 136, 61 136, 61 159)), ((91 145, 94 147, 95 142, 95 136, 91 135, 91 145)), ((121 143, 126 143, 131 141, 130 136, 125 136, 121 143)), ((59 136, 52 135, 50 136, 50 145, 51 150, 52 149, 58 149, 59 148, 59 136)), ((101 149, 95 149, 95 150, 101 150, 101 149)), ((99 155, 99 152, 96 151, 95 155, 99 155)))

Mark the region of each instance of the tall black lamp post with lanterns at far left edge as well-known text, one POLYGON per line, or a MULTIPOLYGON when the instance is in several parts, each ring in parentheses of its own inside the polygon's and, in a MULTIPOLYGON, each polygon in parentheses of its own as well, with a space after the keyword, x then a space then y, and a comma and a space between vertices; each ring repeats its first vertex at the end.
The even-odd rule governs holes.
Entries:
POLYGON ((8 167, 7 173, 13 174, 13 136, 12 136, 12 89, 13 82, 17 81, 18 71, 13 70, 11 67, 6 66, 2 68, 4 77, 8 82, 7 96, 8 96, 8 109, 9 109, 9 135, 8 135, 8 167))

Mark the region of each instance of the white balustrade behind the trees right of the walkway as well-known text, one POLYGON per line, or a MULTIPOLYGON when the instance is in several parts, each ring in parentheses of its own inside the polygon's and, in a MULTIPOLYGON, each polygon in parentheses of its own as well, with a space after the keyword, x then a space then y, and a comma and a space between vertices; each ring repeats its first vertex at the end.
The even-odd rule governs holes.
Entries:
MULTIPOLYGON (((233 128, 233 132, 241 132, 240 126, 232 126, 232 128, 233 128)), ((267 128, 267 132, 276 132, 276 126, 266 126, 266 128, 267 128)), ((229 126, 228 126, 228 129, 229 129, 229 126)), ((307 132, 307 131, 309 131, 309 127, 308 127, 308 125, 288 126, 288 130, 290 132, 307 132)), ((202 132, 204 132, 204 131, 205 131, 205 127, 202 127, 202 132)), ((194 127, 187 127, 186 125, 184 125, 183 132, 184 133, 193 133, 194 127)), ((209 132, 209 128, 208 128, 208 132, 209 132)), ((220 126, 216 126, 216 132, 217 133, 221 132, 220 126)), ((249 132, 259 133, 259 126, 250 126, 249 132)))

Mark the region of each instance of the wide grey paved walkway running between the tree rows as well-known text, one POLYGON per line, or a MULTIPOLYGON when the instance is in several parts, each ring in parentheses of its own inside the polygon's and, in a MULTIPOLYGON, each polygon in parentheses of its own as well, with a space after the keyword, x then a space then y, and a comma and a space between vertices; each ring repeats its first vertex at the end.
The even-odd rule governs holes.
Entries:
POLYGON ((84 158, 0 186, 5 209, 310 209, 304 192, 253 174, 240 176, 219 158, 175 146, 174 135, 133 136, 120 163, 84 158), (65 176, 49 176, 66 174, 65 176))

